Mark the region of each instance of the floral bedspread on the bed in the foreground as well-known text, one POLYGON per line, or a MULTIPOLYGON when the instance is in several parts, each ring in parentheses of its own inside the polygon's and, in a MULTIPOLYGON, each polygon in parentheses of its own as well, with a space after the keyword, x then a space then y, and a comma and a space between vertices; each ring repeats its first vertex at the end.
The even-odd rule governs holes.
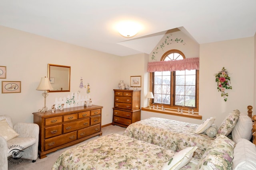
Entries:
POLYGON ((157 170, 174 154, 157 145, 109 134, 64 151, 52 170, 157 170))

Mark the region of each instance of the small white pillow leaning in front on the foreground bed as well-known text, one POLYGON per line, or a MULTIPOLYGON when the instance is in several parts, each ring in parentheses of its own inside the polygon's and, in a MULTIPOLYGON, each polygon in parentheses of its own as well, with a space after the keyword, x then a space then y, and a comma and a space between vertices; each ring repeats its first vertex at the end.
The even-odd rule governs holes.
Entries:
POLYGON ((188 147, 186 149, 177 152, 168 162, 164 164, 162 170, 179 170, 192 159, 194 151, 198 147, 188 147))

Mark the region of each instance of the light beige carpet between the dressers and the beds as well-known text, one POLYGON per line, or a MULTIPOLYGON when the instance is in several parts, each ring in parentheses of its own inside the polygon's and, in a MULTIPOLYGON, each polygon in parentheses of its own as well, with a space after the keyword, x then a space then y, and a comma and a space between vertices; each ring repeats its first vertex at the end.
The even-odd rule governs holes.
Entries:
MULTIPOLYGON (((120 126, 107 126, 102 128, 102 136, 103 135, 108 135, 110 133, 118 133, 118 134, 123 134, 124 130, 126 128, 120 127, 120 126)), ((93 139, 97 139, 99 136, 92 137, 90 139, 87 139, 86 141, 82 143, 86 143, 88 141, 91 141, 93 139)), ((80 145, 81 143, 77 144, 80 145)), ((74 145, 76 146, 76 145, 74 145)), ((74 147, 72 146, 72 147, 74 147)), ((47 154, 46 158, 39 159, 37 158, 36 162, 32 162, 32 160, 27 160, 27 159, 17 159, 14 160, 13 158, 8 159, 8 169, 9 170, 50 170, 52 168, 52 165, 54 164, 55 160, 60 156, 62 152, 65 150, 69 149, 71 147, 66 147, 63 149, 59 149, 56 152, 52 152, 50 154, 47 154)))

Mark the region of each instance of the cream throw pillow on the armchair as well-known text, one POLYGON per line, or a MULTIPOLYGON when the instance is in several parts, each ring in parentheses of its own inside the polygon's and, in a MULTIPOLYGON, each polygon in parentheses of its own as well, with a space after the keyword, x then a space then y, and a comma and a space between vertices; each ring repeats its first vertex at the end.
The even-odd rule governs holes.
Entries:
POLYGON ((9 141, 10 139, 19 136, 16 131, 14 131, 9 124, 7 123, 6 119, 2 119, 0 121, 0 135, 6 139, 6 141, 9 141))

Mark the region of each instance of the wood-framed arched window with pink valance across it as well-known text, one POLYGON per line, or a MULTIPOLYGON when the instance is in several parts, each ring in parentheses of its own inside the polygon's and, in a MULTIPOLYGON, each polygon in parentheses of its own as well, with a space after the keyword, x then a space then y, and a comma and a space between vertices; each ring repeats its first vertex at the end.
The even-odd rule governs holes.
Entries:
MULTIPOLYGON (((183 60, 179 50, 164 53, 161 61, 183 60)), ((166 108, 194 108, 198 111, 199 70, 162 71, 150 73, 150 91, 154 94, 152 104, 166 108)))

